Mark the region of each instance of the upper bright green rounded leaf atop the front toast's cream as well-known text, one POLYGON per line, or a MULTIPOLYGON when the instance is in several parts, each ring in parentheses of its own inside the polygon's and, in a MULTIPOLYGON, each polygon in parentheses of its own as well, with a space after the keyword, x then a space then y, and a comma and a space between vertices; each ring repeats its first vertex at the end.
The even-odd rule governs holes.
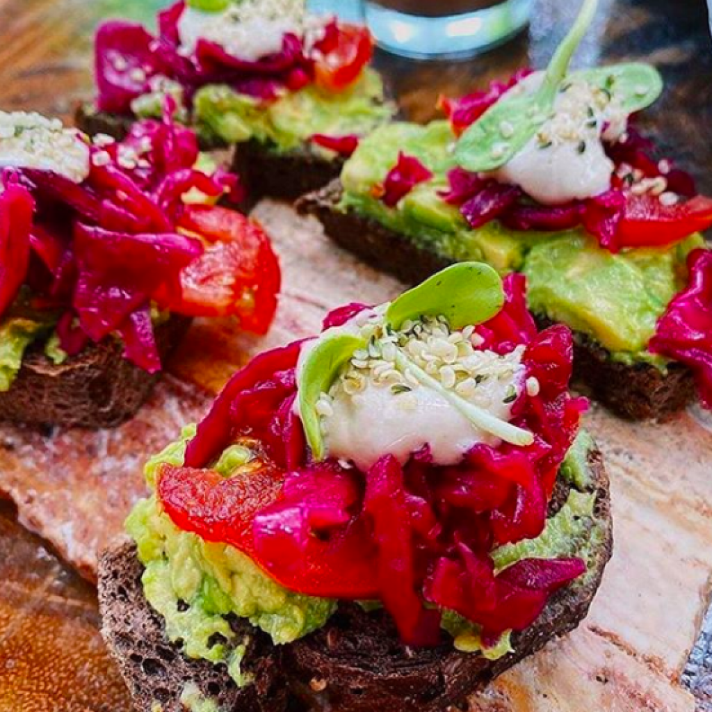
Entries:
POLYGON ((399 329, 407 320, 443 316, 450 328, 481 324, 504 304, 501 277, 480 262, 460 262, 403 293, 388 307, 386 323, 399 329))

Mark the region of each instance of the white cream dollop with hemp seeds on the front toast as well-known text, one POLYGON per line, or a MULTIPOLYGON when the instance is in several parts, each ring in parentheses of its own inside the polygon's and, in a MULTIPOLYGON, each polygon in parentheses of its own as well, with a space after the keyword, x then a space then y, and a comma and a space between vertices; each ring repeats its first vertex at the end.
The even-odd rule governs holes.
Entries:
MULTIPOLYGON (((398 367, 398 350, 441 386, 509 422, 512 407, 527 387, 521 362, 524 347, 506 355, 481 350, 473 327, 451 330, 444 319, 404 323, 397 332, 379 327, 381 315, 360 313, 340 331, 368 342, 317 403, 328 456, 367 470, 384 454, 404 464, 429 446, 434 464, 454 465, 478 443, 500 440, 478 429, 438 390, 398 367)), ((328 332, 325 332, 328 333, 328 332)), ((306 342, 297 374, 317 340, 306 342)))

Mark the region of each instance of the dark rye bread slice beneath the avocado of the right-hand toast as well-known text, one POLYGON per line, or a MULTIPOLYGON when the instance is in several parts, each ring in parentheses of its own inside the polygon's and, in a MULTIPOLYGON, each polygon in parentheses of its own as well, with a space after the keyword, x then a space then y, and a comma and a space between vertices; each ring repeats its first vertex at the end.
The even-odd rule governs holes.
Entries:
MULTIPOLYGON (((296 207, 301 214, 318 218, 337 244, 406 283, 421 282, 453 262, 375 220, 338 209, 341 197, 341 183, 335 180, 303 196, 296 207)), ((686 366, 672 363, 663 373, 648 364, 614 362, 604 348, 579 333, 575 333, 573 381, 614 413, 634 420, 669 416, 696 392, 686 366)))

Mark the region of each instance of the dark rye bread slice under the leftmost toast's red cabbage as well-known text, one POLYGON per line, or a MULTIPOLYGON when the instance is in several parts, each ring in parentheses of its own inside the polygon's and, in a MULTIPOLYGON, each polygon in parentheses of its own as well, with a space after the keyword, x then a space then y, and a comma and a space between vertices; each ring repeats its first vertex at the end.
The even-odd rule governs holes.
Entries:
MULTIPOLYGON (((156 328, 162 361, 182 340, 190 321, 174 315, 156 328)), ((122 343, 113 337, 89 345, 61 365, 48 360, 38 345, 26 353, 10 389, 0 392, 0 421, 114 427, 137 412, 158 376, 128 362, 122 343)))

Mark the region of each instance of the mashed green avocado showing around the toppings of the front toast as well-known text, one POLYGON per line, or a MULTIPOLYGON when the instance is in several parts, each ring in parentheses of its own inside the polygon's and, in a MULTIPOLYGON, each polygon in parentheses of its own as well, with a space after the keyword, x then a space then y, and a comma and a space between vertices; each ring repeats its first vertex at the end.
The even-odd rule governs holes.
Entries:
MULTIPOLYGON (((187 427, 179 441, 148 462, 145 473, 150 487, 155 487, 160 464, 183 463, 186 442, 194 433, 195 426, 187 427)), ((537 539, 495 550, 498 569, 523 557, 570 555, 582 557, 591 568, 592 553, 604 537, 593 514, 594 495, 585 491, 590 484, 587 457, 591 447, 590 437, 580 434, 561 469, 561 476, 572 485, 567 503, 537 539)), ((234 445, 214 469, 226 477, 246 473, 254 466, 252 459, 246 446, 234 445)), ((180 530, 162 511, 155 495, 135 506, 126 527, 145 567, 146 599, 164 618, 169 639, 181 640, 189 657, 225 663, 239 686, 252 682, 241 669, 249 641, 234 633, 229 615, 248 619, 274 643, 286 644, 323 627, 335 612, 337 602, 286 590, 235 548, 208 543, 180 530)), ((444 614, 443 627, 462 651, 497 658, 511 650, 508 634, 497 646, 483 649, 476 626, 454 613, 444 614)))

